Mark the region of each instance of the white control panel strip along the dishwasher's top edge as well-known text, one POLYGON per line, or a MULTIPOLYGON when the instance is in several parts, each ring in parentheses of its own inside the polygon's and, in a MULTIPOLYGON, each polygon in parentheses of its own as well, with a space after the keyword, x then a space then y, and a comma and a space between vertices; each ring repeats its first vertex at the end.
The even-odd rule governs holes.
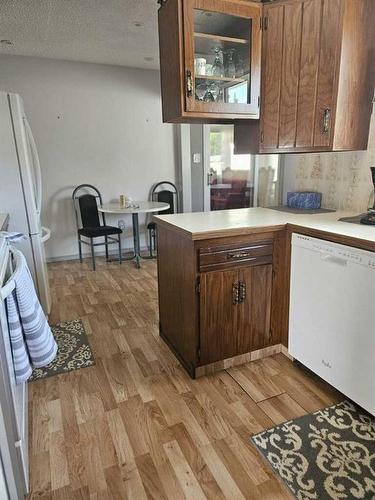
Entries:
POLYGON ((360 264, 375 269, 375 253, 373 252, 348 247, 346 245, 339 245, 337 243, 330 243, 329 241, 325 242, 324 240, 303 236, 297 233, 293 233, 292 245, 319 252, 323 259, 333 257, 337 261, 341 260, 343 263, 351 262, 353 264, 360 264))

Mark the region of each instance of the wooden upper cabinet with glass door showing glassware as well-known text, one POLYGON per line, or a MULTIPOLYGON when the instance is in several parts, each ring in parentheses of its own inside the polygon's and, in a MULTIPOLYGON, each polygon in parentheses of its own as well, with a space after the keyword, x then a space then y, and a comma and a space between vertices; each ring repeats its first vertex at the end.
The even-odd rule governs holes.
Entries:
POLYGON ((247 0, 162 4, 164 122, 259 118, 261 14, 261 4, 247 0))

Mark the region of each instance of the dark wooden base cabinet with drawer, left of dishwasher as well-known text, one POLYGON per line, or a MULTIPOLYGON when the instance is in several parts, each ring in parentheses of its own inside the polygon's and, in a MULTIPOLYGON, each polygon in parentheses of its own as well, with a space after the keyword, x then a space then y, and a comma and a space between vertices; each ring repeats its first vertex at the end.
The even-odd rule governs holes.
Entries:
POLYGON ((158 223, 160 335, 192 377, 285 338, 286 248, 284 230, 194 241, 158 223))

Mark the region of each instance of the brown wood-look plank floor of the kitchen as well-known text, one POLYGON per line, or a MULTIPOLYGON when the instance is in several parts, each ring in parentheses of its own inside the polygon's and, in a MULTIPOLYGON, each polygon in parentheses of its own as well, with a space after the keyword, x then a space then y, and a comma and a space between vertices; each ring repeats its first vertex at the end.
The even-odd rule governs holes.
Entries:
POLYGON ((191 380, 158 336, 155 262, 49 265, 50 323, 96 365, 33 382, 30 498, 281 499, 251 434, 341 399, 282 354, 191 380))

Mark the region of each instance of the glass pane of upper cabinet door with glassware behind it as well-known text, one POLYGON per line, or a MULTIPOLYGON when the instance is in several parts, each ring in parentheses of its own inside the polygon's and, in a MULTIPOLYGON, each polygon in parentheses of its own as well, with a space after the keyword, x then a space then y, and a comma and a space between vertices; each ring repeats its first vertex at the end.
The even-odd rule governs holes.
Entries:
POLYGON ((195 99, 250 103, 251 21, 194 9, 195 99))

